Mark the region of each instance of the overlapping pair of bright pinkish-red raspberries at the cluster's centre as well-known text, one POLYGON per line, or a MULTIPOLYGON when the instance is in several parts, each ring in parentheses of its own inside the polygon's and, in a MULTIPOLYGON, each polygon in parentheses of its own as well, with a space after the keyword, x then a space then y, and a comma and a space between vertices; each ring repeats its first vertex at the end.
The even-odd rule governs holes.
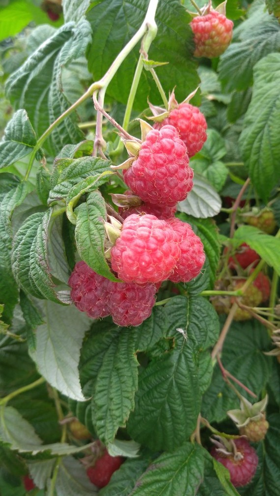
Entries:
POLYGON ((118 277, 138 284, 190 281, 204 261, 202 242, 188 224, 148 214, 127 217, 111 250, 118 277))

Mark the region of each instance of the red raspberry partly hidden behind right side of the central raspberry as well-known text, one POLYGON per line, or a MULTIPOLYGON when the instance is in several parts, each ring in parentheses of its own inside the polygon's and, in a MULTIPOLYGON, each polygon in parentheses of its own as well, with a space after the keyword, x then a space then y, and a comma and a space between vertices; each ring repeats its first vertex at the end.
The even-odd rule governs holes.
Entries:
POLYGON ((168 279, 172 282, 188 282, 198 276, 205 262, 203 244, 186 222, 170 219, 168 224, 178 233, 181 249, 181 256, 168 279))

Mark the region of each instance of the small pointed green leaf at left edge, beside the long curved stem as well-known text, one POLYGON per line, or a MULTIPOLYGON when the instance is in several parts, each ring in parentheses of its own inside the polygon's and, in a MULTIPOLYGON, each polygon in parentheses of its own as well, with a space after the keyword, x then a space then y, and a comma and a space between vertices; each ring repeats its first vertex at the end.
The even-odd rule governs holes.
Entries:
POLYGON ((0 168, 31 153, 36 143, 36 134, 26 111, 18 110, 8 122, 0 142, 0 168))

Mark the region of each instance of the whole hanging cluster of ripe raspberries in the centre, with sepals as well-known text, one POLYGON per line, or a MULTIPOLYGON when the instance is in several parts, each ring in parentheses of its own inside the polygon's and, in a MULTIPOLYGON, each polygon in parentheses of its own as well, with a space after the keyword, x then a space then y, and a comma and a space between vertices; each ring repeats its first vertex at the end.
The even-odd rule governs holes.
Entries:
POLYGON ((124 221, 121 225, 111 217, 111 224, 106 223, 111 267, 120 282, 97 274, 83 261, 69 279, 72 301, 89 317, 112 315, 118 325, 140 325, 151 315, 163 281, 188 282, 202 269, 205 253, 200 238, 189 224, 174 217, 177 202, 193 187, 193 170, 180 135, 189 140, 192 154, 206 139, 205 119, 193 109, 183 103, 173 117, 169 114, 182 130, 169 124, 155 129, 141 121, 141 144, 126 140, 130 158, 117 167, 125 169, 130 190, 115 195, 124 221), (189 111, 192 124, 184 126, 189 111))

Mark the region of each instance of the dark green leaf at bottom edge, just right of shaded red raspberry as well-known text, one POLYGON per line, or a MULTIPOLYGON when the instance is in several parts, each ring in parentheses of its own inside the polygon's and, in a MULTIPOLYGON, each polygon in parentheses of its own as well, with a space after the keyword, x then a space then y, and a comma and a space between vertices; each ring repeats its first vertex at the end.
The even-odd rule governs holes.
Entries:
POLYGON ((127 459, 113 473, 109 484, 100 490, 100 496, 128 496, 134 488, 136 480, 148 466, 147 459, 127 459))

